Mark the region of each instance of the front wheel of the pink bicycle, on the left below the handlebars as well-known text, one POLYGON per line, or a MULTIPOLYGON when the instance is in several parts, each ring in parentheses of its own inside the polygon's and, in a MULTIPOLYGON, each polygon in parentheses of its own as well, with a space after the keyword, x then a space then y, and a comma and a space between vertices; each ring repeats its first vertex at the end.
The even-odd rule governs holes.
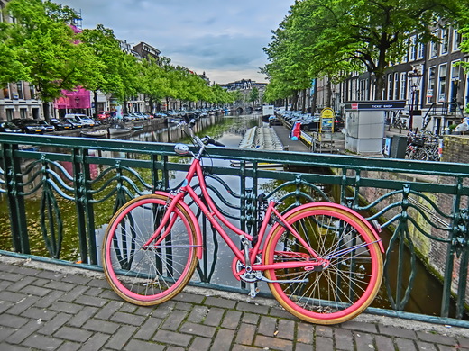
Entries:
POLYGON ((198 223, 180 204, 173 211, 170 236, 159 247, 143 247, 167 203, 168 195, 164 194, 137 197, 125 203, 107 226, 102 265, 107 281, 125 301, 143 306, 166 302, 189 283, 194 273, 198 223))

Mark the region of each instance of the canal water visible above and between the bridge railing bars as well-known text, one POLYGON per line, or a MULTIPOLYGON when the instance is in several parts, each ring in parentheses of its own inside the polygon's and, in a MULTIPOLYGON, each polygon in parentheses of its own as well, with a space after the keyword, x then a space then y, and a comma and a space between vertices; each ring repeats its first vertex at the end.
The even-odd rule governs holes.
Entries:
MULTIPOLYGON (((244 137, 244 133, 246 130, 252 128, 253 126, 260 125, 262 123, 259 115, 248 115, 248 116, 210 116, 209 118, 204 118, 198 121, 198 125, 196 127, 196 131, 199 133, 203 133, 203 135, 208 134, 214 139, 217 139, 221 143, 225 144, 226 147, 229 148, 236 148, 241 139, 244 137)), ((132 135, 124 135, 121 137, 115 137, 113 139, 130 139, 136 141, 152 141, 152 142, 185 142, 189 141, 187 136, 182 132, 182 130, 175 128, 174 126, 166 126, 161 123, 157 124, 159 126, 158 129, 154 128, 154 124, 144 126, 142 130, 135 130, 132 135)), ((92 151, 91 151, 92 153, 92 151)), ((102 155, 100 155, 102 156, 102 155)), ((128 157, 129 155, 127 155, 128 157)), ((188 157, 179 157, 182 162, 188 162, 188 157)), ((210 160, 209 162, 214 162, 214 165, 221 166, 228 166, 229 160, 210 160)), ((207 166, 207 165, 206 165, 207 166)), ((97 172, 99 170, 97 169, 97 172)), ((173 185, 179 184, 182 180, 183 174, 175 174, 174 178, 172 179, 171 183, 173 185)), ((239 179, 237 177, 232 176, 224 176, 223 180, 225 183, 235 192, 239 193, 239 179)), ((251 184, 247 184, 250 186, 251 184)), ((262 188, 272 188, 278 186, 276 181, 269 181, 269 180, 259 180, 259 185, 262 188)), ((213 186, 217 187, 220 186, 219 184, 214 183, 213 186)), ((333 189, 330 190, 330 193, 334 193, 333 189)), ((1 196, 0 196, 1 198, 1 196)), ((60 202, 62 202, 59 199, 60 202)), ((64 202, 64 201, 63 201, 64 202)), ((39 219, 39 211, 40 211, 40 200, 39 199, 30 199, 27 201, 27 211, 29 212, 28 218, 36 218, 39 219)), ((10 229, 9 229, 9 219, 8 213, 6 211, 6 203, 5 201, 0 202, 0 248, 5 250, 11 249, 11 238, 10 238, 10 229)), ((225 211, 233 211, 230 208, 221 205, 222 209, 225 211)), ((75 261, 79 257, 78 252, 78 238, 76 233, 77 225, 76 225, 76 214, 75 208, 73 205, 63 205, 62 207, 62 218, 67 220, 65 225, 65 238, 62 245, 62 254, 60 258, 75 261)), ((106 230, 106 218, 110 218, 109 216, 112 214, 110 211, 104 210, 97 211, 97 223, 101 222, 99 228, 97 228, 97 243, 100 245, 102 236, 104 231, 106 230), (100 217, 101 216, 101 220, 100 217)), ((235 222, 235 224, 239 224, 235 222)), ((48 257, 49 254, 44 247, 43 238, 41 237, 41 224, 39 220, 30 221, 28 223, 28 229, 30 231, 30 239, 31 239, 31 246, 32 253, 34 255, 45 256, 48 257)), ((383 241, 386 241, 386 236, 389 234, 382 233, 383 241)), ((234 242, 236 242, 236 238, 234 238, 234 242)), ((99 252, 99 247, 98 247, 99 252)), ((219 284, 225 286, 234 286, 238 287, 239 282, 235 280, 234 276, 231 273, 231 266, 232 266, 232 259, 233 253, 231 250, 225 245, 223 240, 218 240, 218 242, 214 240, 209 240, 207 244, 207 255, 205 255, 205 260, 201 262, 201 266, 204 267, 207 271, 206 274, 211 276, 210 282, 212 284, 219 284), (214 255, 215 254, 215 255, 214 255)), ((395 257, 391 257, 391 261, 395 262, 395 257)), ((409 260, 406 260, 409 262, 409 260)), ((395 263, 394 268, 397 268, 397 262, 395 263)), ((407 275, 410 273, 409 267, 404 267, 407 275)), ((428 274, 425 267, 418 262, 417 267, 417 275, 416 275, 416 282, 414 283, 413 292, 410 296, 410 300, 406 306, 406 311, 415 312, 415 313, 424 313, 428 315, 438 315, 440 312, 440 301, 441 301, 441 284, 437 281, 437 279, 433 276, 428 274)), ((198 275, 196 273, 195 275, 198 275)), ((392 283, 392 275, 395 275, 395 272, 391 272, 390 279, 391 285, 392 283)), ((195 277, 198 280, 198 277, 195 277)), ((395 284, 394 284, 395 285, 395 284)), ((266 284, 260 284, 260 289, 262 292, 269 291, 266 284)), ((402 287, 403 290, 407 288, 407 286, 402 287)), ((377 297, 376 301, 373 303, 374 307, 381 307, 381 308, 391 308, 391 303, 388 302, 386 298, 386 292, 384 291, 384 284, 382 284, 382 292, 377 297)))

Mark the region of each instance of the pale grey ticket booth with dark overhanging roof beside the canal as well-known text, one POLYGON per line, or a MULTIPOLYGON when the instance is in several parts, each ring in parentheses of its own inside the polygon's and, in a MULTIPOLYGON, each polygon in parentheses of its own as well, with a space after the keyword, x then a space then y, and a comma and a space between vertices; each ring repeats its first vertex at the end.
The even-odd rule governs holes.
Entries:
POLYGON ((387 111, 403 110, 405 101, 345 103, 345 148, 357 154, 382 153, 387 111))

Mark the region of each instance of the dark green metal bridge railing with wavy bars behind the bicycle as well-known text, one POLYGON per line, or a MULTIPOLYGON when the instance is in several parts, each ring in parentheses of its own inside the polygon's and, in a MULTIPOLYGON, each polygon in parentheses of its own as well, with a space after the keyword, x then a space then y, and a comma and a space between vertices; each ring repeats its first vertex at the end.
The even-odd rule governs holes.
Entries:
MULTIPOLYGON (((139 194, 177 187, 189 164, 165 143, 0 133, 0 145, 2 248, 89 265, 99 265, 100 238, 115 210, 139 194)), ((282 210, 341 202, 387 231, 387 309, 406 310, 422 261, 442 285, 440 301, 432 302, 438 318, 466 318, 468 165, 239 148, 208 153, 210 192, 245 230, 256 227, 259 193, 280 198, 282 210)), ((215 237, 207 222, 201 228, 204 238, 215 237)), ((207 284, 226 261, 216 239, 210 245, 213 257, 198 265, 207 284)))

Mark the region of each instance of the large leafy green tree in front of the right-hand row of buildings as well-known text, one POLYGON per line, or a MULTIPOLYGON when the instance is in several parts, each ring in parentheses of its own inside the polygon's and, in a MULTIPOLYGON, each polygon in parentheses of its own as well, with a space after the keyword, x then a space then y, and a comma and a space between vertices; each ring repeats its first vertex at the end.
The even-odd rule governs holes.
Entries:
POLYGON ((311 79, 366 70, 382 99, 384 72, 400 61, 409 37, 436 40, 431 31, 437 20, 451 23, 463 9, 457 0, 297 1, 275 32, 267 51, 275 67, 267 71, 295 82, 301 71, 311 79))

